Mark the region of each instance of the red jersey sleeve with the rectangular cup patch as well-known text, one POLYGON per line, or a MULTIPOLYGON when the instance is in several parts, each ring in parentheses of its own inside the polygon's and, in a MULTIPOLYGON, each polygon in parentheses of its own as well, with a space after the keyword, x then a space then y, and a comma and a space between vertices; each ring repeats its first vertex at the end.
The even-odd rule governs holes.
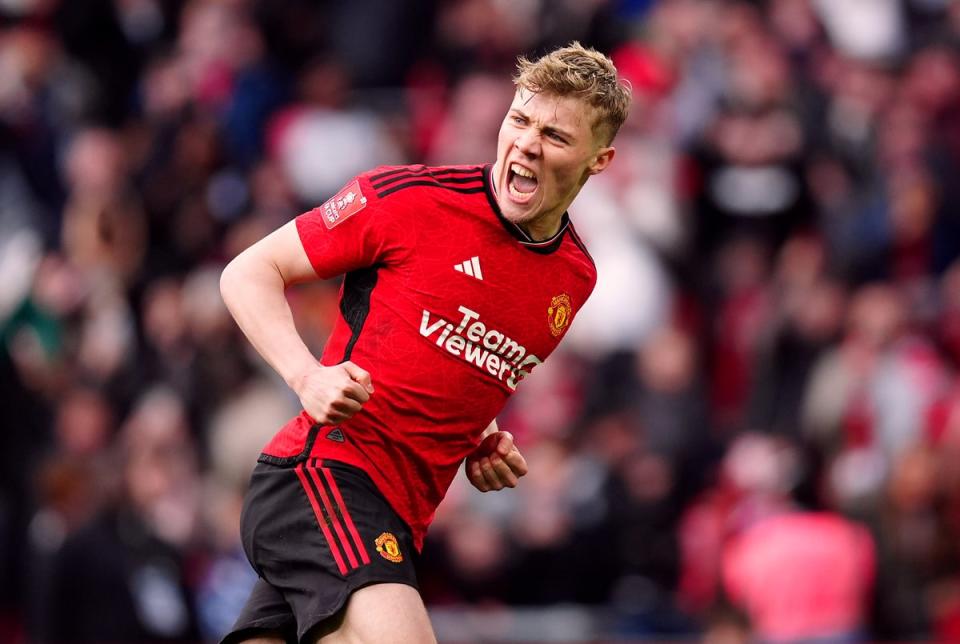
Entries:
POLYGON ((397 208, 379 200, 367 175, 296 219, 303 249, 321 279, 389 261, 398 242, 397 208))

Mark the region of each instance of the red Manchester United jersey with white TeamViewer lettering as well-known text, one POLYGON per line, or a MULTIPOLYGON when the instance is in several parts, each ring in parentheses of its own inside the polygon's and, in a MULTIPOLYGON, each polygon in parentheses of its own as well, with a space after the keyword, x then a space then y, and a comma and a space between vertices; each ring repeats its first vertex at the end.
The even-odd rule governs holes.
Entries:
POLYGON ((417 548, 460 463, 596 283, 566 215, 555 237, 530 240, 500 213, 490 171, 382 167, 297 218, 317 275, 345 276, 321 362, 353 361, 375 391, 337 427, 300 414, 264 455, 363 469, 417 548))

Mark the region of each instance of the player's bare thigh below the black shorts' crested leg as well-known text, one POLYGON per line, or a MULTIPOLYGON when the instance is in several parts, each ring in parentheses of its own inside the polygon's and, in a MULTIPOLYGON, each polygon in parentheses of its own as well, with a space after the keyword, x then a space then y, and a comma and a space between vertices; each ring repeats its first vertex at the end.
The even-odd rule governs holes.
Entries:
POLYGON ((316 629, 317 644, 431 644, 437 641, 420 593, 404 584, 365 586, 336 621, 316 629))

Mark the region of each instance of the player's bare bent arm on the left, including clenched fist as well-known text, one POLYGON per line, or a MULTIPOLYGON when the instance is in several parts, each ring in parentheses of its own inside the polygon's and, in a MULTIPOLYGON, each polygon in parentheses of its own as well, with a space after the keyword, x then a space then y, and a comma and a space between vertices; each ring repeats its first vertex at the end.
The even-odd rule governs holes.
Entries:
POLYGON ((297 332, 286 289, 316 279, 291 221, 227 265, 220 293, 254 349, 297 394, 307 414, 336 425, 360 411, 373 384, 370 374, 352 362, 321 365, 297 332))

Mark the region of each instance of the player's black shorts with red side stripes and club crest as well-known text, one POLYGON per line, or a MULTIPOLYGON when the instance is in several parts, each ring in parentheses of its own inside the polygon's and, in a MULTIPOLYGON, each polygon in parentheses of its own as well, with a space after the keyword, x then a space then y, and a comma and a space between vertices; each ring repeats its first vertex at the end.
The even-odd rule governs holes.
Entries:
POLYGON ((303 641, 363 586, 417 588, 410 528, 370 477, 345 463, 260 462, 240 536, 260 579, 224 644, 265 631, 303 641))

